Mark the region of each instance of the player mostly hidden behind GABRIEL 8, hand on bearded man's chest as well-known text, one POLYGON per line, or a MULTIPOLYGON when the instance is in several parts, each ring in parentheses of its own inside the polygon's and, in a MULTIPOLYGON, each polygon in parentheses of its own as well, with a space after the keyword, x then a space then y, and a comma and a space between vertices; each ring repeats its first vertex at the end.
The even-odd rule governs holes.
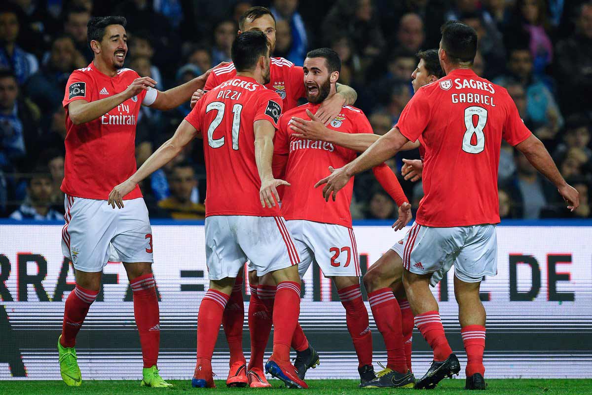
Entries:
MULTIPOLYGON (((444 75, 436 49, 421 51, 417 53, 417 57, 420 59, 419 63, 411 74, 411 84, 414 91, 444 75)), ((292 117, 290 127, 296 132, 293 136, 302 139, 324 140, 360 152, 368 149, 379 138, 377 134, 350 134, 331 130, 320 123, 312 114, 309 114, 309 117, 311 120, 292 117)), ((423 147, 420 146, 419 141, 407 142, 401 150, 414 149, 418 146, 423 156, 423 147)), ((410 165, 407 166, 410 167, 410 165)), ((363 387, 396 387, 398 381, 396 378, 393 381, 392 377, 406 374, 407 369, 411 370, 411 341, 413 339, 414 324, 413 313, 411 313, 411 307, 401 283, 401 277, 403 276, 403 260, 401 257, 403 251, 400 251, 400 246, 400 243, 392 246, 377 262, 370 266, 363 277, 364 286, 371 302, 372 314, 387 347, 388 358, 385 371, 379 374, 377 380, 362 384, 363 387), (398 327, 401 327, 403 332, 403 344, 401 344, 400 336, 392 334, 392 330, 398 327), (397 364, 401 347, 404 347, 405 350, 407 367, 403 366, 403 364, 397 364)))

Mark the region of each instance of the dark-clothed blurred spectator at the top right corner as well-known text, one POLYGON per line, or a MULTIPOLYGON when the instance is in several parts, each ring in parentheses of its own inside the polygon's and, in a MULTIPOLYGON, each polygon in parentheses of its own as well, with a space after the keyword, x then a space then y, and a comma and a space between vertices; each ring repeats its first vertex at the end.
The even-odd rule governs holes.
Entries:
POLYGON ((561 108, 570 114, 590 111, 592 92, 592 2, 578 11, 575 33, 557 44, 555 56, 561 108))

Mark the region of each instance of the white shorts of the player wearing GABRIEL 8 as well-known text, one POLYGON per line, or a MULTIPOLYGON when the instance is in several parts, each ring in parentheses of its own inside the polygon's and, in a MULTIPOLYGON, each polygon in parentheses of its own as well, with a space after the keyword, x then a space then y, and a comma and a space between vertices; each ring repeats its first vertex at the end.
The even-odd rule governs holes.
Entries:
POLYGON ((408 271, 432 273, 432 287, 453 265, 456 277, 464 282, 497 274, 497 235, 492 224, 429 227, 416 223, 391 249, 408 271))

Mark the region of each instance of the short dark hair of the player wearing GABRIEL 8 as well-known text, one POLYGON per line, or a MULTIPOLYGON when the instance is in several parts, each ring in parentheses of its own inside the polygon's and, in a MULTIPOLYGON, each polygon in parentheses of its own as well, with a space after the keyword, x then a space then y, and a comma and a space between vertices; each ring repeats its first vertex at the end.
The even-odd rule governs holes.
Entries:
POLYGON ((477 32, 459 21, 442 25, 442 48, 453 63, 473 63, 477 54, 477 32))

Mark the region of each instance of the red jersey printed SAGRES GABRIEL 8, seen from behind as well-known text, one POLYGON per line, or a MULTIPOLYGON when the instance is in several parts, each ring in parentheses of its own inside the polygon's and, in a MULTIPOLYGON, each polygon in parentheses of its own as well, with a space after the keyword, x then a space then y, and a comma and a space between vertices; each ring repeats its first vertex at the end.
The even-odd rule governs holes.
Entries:
POLYGON ((506 89, 456 69, 420 88, 395 125, 426 148, 417 223, 433 227, 500 221, 497 169, 501 139, 530 136, 506 89))

